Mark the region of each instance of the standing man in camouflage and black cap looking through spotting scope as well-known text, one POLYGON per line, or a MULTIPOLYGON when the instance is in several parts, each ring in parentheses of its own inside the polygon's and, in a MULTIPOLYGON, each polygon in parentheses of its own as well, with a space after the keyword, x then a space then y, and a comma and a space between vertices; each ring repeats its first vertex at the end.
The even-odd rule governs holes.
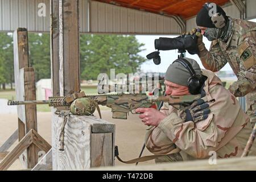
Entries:
POLYGON ((252 126, 256 122, 256 23, 226 16, 214 3, 205 3, 196 17, 201 34, 194 28, 190 34, 199 36, 199 57, 206 69, 217 72, 229 63, 238 80, 229 87, 236 97, 246 97, 246 113, 252 126), (212 41, 205 48, 203 36, 212 41))

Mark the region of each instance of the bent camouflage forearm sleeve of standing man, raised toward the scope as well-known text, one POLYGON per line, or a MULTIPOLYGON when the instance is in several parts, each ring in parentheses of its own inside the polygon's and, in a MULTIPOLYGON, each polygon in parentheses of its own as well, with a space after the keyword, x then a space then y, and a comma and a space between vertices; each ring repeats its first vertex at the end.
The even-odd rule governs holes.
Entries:
POLYGON ((218 72, 228 63, 217 40, 212 42, 210 51, 205 48, 204 43, 199 45, 199 50, 199 57, 205 69, 218 72))

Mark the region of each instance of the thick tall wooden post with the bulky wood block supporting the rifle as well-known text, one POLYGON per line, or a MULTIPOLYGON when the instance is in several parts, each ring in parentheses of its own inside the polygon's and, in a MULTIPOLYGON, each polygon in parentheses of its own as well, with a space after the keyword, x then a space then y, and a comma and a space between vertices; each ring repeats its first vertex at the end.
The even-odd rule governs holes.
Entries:
MULTIPOLYGON (((56 11, 57 1, 51 1, 56 11)), ((59 52, 51 47, 53 90, 59 83, 60 96, 80 92, 79 0, 59 0, 59 52), (59 54, 59 58, 56 54, 59 54), (57 77, 59 75, 59 77, 57 77)), ((52 34, 55 34, 56 12, 52 12, 52 34)), ((52 45, 57 40, 51 36, 52 45)), ((55 91, 54 91, 55 92, 55 91)), ((57 91, 56 91, 57 93, 57 91)), ((69 115, 65 126, 64 151, 59 151, 63 118, 52 111, 52 169, 84 170, 114 165, 114 125, 95 117, 69 115)))

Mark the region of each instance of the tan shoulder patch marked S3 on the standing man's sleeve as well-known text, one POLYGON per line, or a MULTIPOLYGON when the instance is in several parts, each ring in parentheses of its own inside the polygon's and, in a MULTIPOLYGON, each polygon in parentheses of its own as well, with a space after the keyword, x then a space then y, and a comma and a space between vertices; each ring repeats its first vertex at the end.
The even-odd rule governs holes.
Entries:
POLYGON ((255 56, 253 55, 253 51, 251 51, 249 43, 247 42, 242 43, 238 47, 238 53, 246 69, 249 69, 256 64, 256 59, 255 59, 255 56))

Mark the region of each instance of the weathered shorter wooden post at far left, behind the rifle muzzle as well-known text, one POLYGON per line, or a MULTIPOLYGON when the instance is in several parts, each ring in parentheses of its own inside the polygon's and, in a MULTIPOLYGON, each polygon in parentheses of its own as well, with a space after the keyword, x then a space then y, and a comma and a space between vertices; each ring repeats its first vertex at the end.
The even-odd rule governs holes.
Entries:
MULTIPOLYGON (((14 75, 16 99, 36 100, 35 73, 28 67, 28 34, 26 28, 14 32, 14 75)), ((37 131, 36 106, 18 106, 19 139, 31 129, 37 131), (23 125, 23 123, 24 125, 23 125)), ((27 148, 20 158, 26 168, 32 168, 38 162, 38 149, 34 144, 27 148)))

